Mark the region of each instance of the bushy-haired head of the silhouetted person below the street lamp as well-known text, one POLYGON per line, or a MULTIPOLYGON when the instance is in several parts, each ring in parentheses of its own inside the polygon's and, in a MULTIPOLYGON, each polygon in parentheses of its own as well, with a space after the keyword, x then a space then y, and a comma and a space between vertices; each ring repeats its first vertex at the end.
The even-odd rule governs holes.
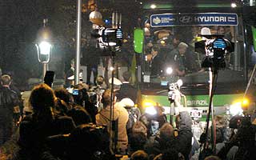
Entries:
POLYGON ((45 110, 55 105, 54 90, 50 86, 42 83, 38 86, 34 86, 34 89, 30 94, 30 105, 34 112, 39 110, 45 110))

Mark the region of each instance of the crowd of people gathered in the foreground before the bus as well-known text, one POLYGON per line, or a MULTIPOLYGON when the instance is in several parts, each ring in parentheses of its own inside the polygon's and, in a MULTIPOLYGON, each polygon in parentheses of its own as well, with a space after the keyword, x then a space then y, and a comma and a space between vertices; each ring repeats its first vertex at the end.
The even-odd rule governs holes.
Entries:
MULTIPOLYGON (((21 100, 11 89, 11 77, 1 77, 0 158, 3 160, 77 159, 255 159, 255 127, 248 119, 236 119, 237 131, 223 138, 218 130, 216 152, 200 150, 192 133, 192 119, 179 108, 175 126, 157 115, 141 114, 134 106, 137 90, 130 84, 130 72, 122 75, 122 86, 111 92, 104 78, 97 86, 78 84, 70 94, 46 83, 34 86, 30 112, 18 110, 21 100), (94 93, 94 94, 92 94, 94 93), (95 98, 96 96, 96 98, 95 98), (16 109, 15 109, 16 108, 16 109), (14 113, 21 118, 14 121, 14 113), (112 115, 111 115, 112 114, 112 115), (154 126, 158 124, 158 127, 154 126), (14 127, 15 126, 15 127, 14 127), (152 130, 156 128, 156 130, 152 130), (217 150, 218 149, 218 150, 217 150)), ((230 122, 231 123, 231 122, 230 122)), ((203 142, 201 142, 202 145, 203 142)))

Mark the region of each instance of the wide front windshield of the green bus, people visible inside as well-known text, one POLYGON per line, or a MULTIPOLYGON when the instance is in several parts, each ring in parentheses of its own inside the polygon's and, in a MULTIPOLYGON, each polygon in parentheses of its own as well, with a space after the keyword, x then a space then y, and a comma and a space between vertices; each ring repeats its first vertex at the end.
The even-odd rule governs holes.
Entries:
MULTIPOLYGON (((156 19, 154 20, 157 22, 156 19)), ((224 57, 223 68, 229 70, 230 74, 225 74, 225 70, 221 70, 219 73, 223 76, 220 76, 222 77, 220 81, 226 80, 229 83, 232 80, 243 81, 244 50, 238 24, 161 26, 161 22, 158 23, 160 24, 158 27, 152 26, 152 22, 151 24, 146 22, 144 26, 143 82, 165 86, 168 82, 182 78, 186 84, 207 83, 208 69, 202 67, 206 48, 205 46, 198 48, 196 45, 205 38, 203 34, 222 35, 222 38, 234 47, 234 50, 224 57)))

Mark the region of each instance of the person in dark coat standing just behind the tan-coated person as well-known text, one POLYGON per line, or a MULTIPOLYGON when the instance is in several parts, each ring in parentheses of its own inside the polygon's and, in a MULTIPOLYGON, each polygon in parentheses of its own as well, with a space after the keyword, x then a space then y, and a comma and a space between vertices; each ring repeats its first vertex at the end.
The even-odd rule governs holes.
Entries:
POLYGON ((136 103, 138 90, 130 84, 130 72, 124 72, 122 77, 124 82, 122 82, 122 86, 120 87, 120 90, 118 90, 118 100, 121 101, 123 98, 130 98, 134 103, 136 103))

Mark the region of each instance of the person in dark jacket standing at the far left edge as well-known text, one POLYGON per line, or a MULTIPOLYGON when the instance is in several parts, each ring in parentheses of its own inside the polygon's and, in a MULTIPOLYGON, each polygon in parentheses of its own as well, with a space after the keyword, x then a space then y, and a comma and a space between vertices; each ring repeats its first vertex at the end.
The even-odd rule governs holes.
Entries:
POLYGON ((0 86, 0 146, 12 135, 14 108, 19 108, 18 94, 10 90, 11 78, 4 74, 0 86))

